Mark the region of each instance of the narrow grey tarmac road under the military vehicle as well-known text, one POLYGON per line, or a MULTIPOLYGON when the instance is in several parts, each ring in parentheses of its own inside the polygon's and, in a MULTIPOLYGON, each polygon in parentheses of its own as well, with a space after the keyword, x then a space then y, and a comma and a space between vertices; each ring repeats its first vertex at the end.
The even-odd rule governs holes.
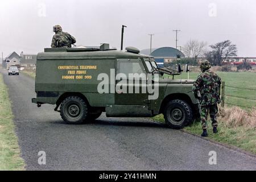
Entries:
POLYGON ((256 170, 256 159, 229 148, 168 129, 144 118, 106 118, 65 125, 53 105, 38 108, 34 80, 8 76, 22 158, 27 170, 256 170), (46 165, 38 152, 46 152, 46 165), (217 152, 210 165, 209 151, 217 152))

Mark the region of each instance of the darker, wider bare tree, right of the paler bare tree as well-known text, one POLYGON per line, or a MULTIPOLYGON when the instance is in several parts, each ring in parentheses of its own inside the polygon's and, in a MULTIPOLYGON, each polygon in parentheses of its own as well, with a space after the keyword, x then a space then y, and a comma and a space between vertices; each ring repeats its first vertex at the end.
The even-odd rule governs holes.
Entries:
POLYGON ((221 65, 222 62, 229 56, 237 56, 237 46, 232 44, 230 40, 211 45, 212 51, 206 53, 207 59, 213 65, 221 65))

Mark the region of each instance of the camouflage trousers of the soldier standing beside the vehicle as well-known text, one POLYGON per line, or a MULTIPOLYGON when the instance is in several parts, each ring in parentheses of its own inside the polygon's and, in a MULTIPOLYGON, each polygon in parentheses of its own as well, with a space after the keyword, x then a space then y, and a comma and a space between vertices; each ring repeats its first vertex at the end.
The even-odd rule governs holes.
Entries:
POLYGON ((218 114, 218 106, 217 104, 208 105, 208 106, 200 106, 200 117, 202 122, 202 128, 207 129, 208 127, 208 113, 210 113, 210 120, 212 120, 212 127, 218 126, 217 114, 218 114))

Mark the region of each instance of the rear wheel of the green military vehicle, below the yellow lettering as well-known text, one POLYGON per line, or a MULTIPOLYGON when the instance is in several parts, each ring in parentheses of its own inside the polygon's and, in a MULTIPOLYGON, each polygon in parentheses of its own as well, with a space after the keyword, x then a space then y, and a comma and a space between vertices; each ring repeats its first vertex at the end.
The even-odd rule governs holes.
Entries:
POLYGON ((88 106, 82 98, 69 96, 61 103, 60 115, 67 124, 81 124, 88 117, 88 106))

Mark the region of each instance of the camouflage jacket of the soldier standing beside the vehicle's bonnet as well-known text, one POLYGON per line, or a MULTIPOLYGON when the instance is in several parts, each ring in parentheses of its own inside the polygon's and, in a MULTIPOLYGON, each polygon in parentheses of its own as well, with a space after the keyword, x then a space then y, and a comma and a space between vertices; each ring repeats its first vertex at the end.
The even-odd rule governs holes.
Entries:
POLYGON ((201 73, 193 84, 193 93, 201 106, 220 103, 221 78, 212 71, 201 73), (200 92, 200 97, 198 96, 200 92))

